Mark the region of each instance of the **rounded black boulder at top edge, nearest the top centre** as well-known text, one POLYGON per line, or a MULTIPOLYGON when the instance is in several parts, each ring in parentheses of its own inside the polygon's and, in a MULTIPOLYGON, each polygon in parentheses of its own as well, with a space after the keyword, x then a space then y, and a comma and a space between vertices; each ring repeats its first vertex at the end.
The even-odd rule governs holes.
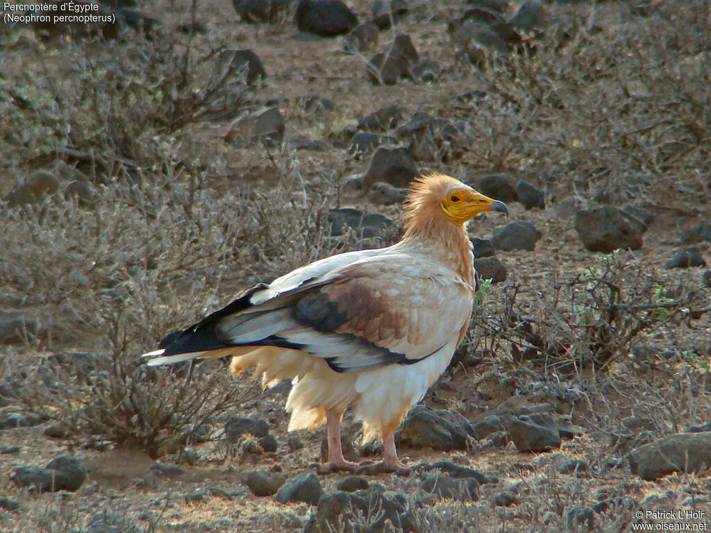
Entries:
POLYGON ((299 31, 321 37, 343 35, 358 25, 358 17, 341 0, 300 0, 294 21, 299 31))

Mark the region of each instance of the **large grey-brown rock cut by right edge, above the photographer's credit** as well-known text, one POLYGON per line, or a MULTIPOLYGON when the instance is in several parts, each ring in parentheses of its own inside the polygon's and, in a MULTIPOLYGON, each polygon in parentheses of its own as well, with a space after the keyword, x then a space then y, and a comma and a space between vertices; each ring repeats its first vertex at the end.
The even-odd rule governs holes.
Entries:
POLYGON ((711 467, 711 432, 668 435, 627 454, 632 473, 656 480, 673 472, 711 467))

